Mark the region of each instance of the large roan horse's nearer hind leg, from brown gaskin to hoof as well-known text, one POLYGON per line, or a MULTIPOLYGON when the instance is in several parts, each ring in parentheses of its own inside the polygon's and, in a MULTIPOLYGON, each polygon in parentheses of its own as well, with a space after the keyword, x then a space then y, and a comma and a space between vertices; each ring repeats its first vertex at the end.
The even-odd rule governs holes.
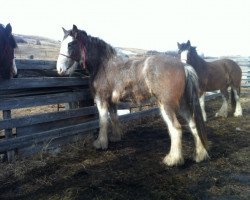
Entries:
POLYGON ((160 110, 164 121, 168 126, 168 132, 171 139, 171 147, 169 154, 164 158, 163 162, 168 166, 180 165, 184 163, 182 156, 182 130, 177 120, 174 110, 168 105, 160 105, 160 110))

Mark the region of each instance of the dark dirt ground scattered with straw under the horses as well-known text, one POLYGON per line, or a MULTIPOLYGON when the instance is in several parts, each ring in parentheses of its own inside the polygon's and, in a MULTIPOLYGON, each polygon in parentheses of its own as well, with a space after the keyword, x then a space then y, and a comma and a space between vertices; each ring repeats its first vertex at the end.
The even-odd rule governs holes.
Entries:
POLYGON ((185 164, 165 166, 167 128, 147 118, 124 124, 123 140, 107 151, 94 150, 90 138, 56 156, 1 163, 0 199, 250 199, 250 95, 241 100, 241 118, 215 118, 221 101, 207 103, 208 161, 192 160, 193 138, 184 131, 185 164))

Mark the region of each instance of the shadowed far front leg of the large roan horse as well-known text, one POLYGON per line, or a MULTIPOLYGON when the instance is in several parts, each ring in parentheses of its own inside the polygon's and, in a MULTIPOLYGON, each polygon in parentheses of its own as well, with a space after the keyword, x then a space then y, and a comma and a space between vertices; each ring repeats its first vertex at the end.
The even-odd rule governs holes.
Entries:
POLYGON ((117 106, 111 103, 109 107, 109 114, 111 119, 112 133, 109 135, 109 140, 111 142, 120 141, 122 138, 122 130, 120 126, 120 121, 117 116, 117 106))

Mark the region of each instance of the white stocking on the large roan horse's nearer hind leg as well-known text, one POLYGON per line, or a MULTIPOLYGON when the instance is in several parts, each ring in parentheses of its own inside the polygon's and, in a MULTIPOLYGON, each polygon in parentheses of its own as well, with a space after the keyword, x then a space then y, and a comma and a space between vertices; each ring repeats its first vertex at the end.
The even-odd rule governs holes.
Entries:
POLYGON ((171 139, 171 147, 169 154, 164 158, 163 162, 168 166, 179 165, 184 163, 182 156, 182 131, 174 127, 173 122, 170 120, 169 116, 166 114, 164 106, 160 105, 160 110, 164 121, 166 122, 169 130, 169 135, 171 139))

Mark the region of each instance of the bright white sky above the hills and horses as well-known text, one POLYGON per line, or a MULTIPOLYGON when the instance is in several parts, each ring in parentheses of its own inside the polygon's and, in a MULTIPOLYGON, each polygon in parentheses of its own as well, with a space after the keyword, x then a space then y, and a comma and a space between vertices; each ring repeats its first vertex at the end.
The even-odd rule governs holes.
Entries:
POLYGON ((250 56, 250 0, 0 0, 13 33, 62 40, 75 24, 115 47, 250 56))

